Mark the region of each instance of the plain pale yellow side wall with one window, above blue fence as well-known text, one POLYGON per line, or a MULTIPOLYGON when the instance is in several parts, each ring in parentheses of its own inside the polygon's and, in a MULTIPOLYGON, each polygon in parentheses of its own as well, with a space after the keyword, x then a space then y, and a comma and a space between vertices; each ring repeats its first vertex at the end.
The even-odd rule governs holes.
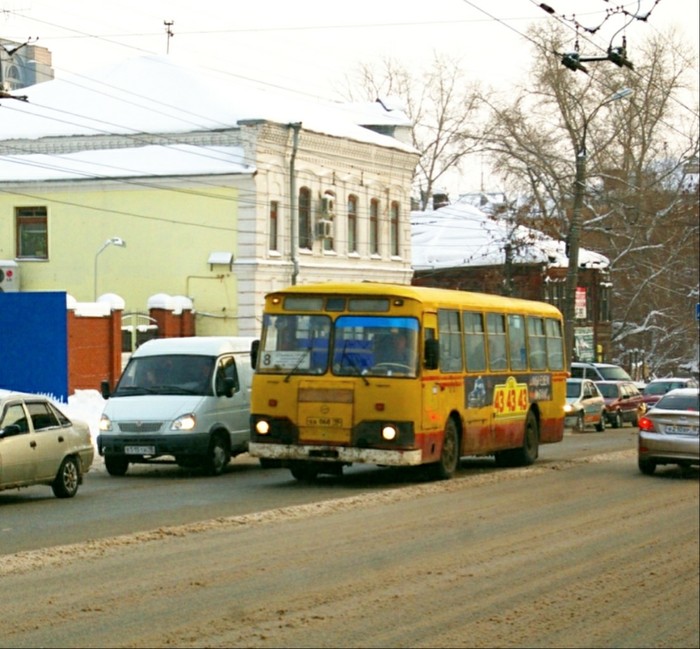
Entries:
POLYGON ((49 260, 15 259, 22 290, 65 290, 92 301, 95 256, 119 236, 125 248, 110 245, 97 257, 98 295, 120 295, 127 312, 145 311, 156 293, 187 295, 198 312, 235 315, 235 277, 207 259, 213 251, 236 254, 238 189, 188 179, 171 190, 101 185, 28 193, 0 193, 0 259, 15 259, 15 207, 48 210, 49 260))

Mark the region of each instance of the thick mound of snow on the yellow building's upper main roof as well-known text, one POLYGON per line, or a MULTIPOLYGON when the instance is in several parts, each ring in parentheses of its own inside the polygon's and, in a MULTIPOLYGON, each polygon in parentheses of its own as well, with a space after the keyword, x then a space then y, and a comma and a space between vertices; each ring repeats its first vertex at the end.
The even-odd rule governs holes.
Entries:
POLYGON ((0 104, 0 141, 209 131, 263 119, 301 122, 306 130, 415 152, 393 137, 359 126, 342 104, 264 89, 232 73, 190 67, 172 56, 127 59, 23 88, 22 94, 27 102, 3 99, 0 104))

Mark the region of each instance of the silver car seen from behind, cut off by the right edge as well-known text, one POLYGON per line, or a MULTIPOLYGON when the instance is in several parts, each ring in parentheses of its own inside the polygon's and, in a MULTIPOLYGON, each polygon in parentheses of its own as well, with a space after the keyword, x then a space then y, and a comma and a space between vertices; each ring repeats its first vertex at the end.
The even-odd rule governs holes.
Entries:
POLYGON ((659 464, 698 466, 699 417, 698 388, 677 388, 661 397, 639 420, 639 470, 652 475, 659 464))

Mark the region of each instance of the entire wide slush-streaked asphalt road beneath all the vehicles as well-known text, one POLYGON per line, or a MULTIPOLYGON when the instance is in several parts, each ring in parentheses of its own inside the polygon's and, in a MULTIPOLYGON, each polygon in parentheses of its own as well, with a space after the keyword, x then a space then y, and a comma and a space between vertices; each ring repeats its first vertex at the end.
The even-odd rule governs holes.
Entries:
POLYGON ((0 646, 698 647, 698 471, 643 476, 635 433, 444 482, 241 457, 3 492, 0 646))

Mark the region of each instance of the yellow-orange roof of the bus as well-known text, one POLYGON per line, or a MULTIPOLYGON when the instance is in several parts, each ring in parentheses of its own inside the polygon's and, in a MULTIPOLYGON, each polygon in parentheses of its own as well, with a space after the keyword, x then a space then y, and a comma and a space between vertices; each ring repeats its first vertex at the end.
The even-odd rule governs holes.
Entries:
POLYGON ((451 306, 455 308, 479 308, 499 310, 506 313, 536 313, 543 316, 561 317, 561 312, 554 305, 535 300, 458 291, 447 288, 412 286, 406 284, 389 284, 382 282, 324 282, 318 284, 300 284, 289 286, 279 291, 268 293, 267 297, 280 294, 335 294, 335 295, 376 295, 402 297, 416 300, 435 308, 451 306))

